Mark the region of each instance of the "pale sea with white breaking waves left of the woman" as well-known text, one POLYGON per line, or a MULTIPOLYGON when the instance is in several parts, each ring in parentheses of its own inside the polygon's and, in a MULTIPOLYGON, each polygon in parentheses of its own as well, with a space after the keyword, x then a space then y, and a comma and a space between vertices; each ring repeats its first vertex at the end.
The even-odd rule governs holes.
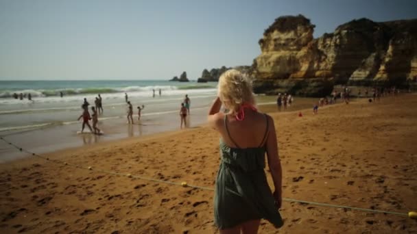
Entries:
POLYGON ((124 116, 125 92, 133 105, 146 106, 144 114, 157 114, 178 109, 185 94, 193 99, 213 96, 216 86, 217 83, 158 80, 0 81, 0 133, 77 124, 84 98, 94 105, 98 94, 103 99, 104 114, 99 116, 103 121, 124 116), (152 90, 156 90, 155 97, 152 90), (62 98, 60 92, 64 94, 62 98), (32 101, 27 96, 14 99, 14 93, 30 93, 32 101))

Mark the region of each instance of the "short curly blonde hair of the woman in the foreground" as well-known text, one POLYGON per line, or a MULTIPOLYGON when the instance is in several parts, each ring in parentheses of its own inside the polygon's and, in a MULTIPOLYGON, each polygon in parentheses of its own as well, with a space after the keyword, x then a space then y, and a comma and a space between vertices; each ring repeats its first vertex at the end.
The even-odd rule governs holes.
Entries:
POLYGON ((239 70, 227 70, 219 78, 218 96, 226 109, 239 112, 241 105, 254 105, 252 81, 239 70))

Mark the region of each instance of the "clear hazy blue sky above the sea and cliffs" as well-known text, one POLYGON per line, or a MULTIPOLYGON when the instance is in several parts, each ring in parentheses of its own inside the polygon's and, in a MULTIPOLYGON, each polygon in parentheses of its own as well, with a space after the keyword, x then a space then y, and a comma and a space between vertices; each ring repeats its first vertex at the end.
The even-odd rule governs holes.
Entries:
POLYGON ((250 65, 263 30, 304 14, 342 23, 417 18, 416 0, 0 0, 0 79, 170 79, 250 65))

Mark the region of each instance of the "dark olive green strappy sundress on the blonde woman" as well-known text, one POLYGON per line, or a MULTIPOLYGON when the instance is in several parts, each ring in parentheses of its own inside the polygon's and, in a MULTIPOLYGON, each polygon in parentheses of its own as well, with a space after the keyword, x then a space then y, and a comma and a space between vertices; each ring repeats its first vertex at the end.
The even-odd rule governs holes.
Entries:
MULTIPOLYGON (((229 147, 220 140, 222 161, 215 185, 215 225, 219 229, 230 229, 242 222, 264 218, 276 228, 283 226, 265 176, 265 144, 257 148, 239 148, 230 137, 226 117, 224 124, 230 140, 237 147, 229 147)), ((266 136, 267 131, 263 142, 266 136)))

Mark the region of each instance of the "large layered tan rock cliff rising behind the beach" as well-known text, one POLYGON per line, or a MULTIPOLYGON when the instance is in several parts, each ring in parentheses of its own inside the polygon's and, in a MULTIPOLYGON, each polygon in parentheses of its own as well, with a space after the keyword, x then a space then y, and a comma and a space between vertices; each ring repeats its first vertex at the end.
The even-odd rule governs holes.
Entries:
POLYGON ((329 94, 334 84, 406 86, 417 77, 417 19, 376 23, 366 18, 313 38, 305 16, 282 16, 259 40, 254 91, 329 94))

